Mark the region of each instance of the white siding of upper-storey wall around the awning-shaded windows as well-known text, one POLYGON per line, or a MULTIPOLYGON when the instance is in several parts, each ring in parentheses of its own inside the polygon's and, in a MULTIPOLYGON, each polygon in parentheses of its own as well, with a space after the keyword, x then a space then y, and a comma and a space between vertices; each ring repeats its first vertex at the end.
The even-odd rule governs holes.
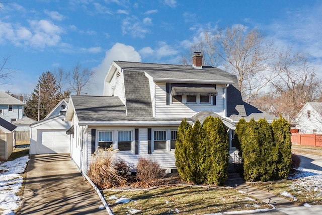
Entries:
MULTIPOLYGON (((155 86, 155 118, 189 118, 201 111, 213 111, 224 115, 224 85, 216 85, 218 95, 216 105, 212 104, 183 104, 179 102, 166 104, 166 83, 156 83, 155 86)), ((152 103, 153 104, 153 103, 152 103)))

